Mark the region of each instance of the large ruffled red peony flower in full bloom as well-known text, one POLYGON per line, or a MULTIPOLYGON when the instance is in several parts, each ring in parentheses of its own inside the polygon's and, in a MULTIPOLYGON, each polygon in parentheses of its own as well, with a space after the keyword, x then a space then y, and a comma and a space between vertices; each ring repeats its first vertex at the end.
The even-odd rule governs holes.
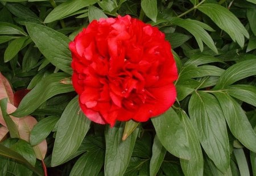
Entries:
POLYGON ((174 104, 177 68, 158 28, 129 15, 93 20, 69 48, 73 87, 93 122, 145 122, 174 104))

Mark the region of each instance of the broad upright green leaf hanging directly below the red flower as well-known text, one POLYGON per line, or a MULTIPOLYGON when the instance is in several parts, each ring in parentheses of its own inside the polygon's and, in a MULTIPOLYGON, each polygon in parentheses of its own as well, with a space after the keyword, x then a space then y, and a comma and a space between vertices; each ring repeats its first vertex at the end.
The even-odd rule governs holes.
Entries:
POLYGON ((106 176, 121 176, 125 173, 129 164, 139 128, 135 130, 125 141, 122 140, 123 123, 113 128, 106 127, 106 154, 104 171, 106 176))

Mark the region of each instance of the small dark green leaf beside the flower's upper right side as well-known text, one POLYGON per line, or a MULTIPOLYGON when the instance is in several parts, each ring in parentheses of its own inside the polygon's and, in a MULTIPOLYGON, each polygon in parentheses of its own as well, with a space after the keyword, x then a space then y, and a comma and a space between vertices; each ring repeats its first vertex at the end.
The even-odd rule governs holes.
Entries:
POLYGON ((191 36, 184 35, 183 33, 166 33, 166 39, 170 41, 172 49, 184 44, 184 42, 188 41, 189 38, 191 38, 191 36))

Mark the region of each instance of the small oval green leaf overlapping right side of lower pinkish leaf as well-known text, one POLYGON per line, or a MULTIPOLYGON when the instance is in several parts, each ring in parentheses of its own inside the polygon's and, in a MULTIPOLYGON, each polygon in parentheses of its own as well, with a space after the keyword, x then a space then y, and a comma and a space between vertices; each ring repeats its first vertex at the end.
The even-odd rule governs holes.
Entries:
POLYGON ((30 132, 30 144, 36 145, 42 142, 51 133, 59 117, 49 116, 42 119, 32 128, 30 132))

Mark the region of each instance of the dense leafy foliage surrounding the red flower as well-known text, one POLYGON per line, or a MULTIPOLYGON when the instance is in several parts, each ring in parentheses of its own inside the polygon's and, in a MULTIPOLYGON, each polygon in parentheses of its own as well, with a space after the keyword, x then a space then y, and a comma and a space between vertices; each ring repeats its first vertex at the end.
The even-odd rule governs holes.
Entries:
POLYGON ((255 0, 0 2, 0 175, 256 175, 255 0), (68 43, 118 14, 166 33, 179 79, 166 113, 110 128, 80 111, 68 43))

